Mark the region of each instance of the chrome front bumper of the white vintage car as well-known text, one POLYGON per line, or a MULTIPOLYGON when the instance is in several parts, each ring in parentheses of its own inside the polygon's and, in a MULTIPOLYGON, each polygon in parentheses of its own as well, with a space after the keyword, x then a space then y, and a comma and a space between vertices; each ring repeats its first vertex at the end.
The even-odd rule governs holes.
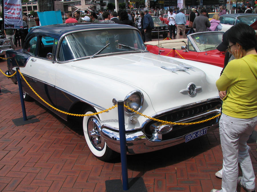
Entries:
MULTIPOLYGON (((207 132, 218 128, 218 120, 214 125, 208 126, 206 128, 207 128, 207 132)), ((183 135, 182 137, 178 137, 175 139, 170 139, 167 141, 150 141, 148 138, 146 138, 146 136, 141 130, 136 132, 127 132, 126 133, 127 154, 146 153, 146 152, 156 151, 156 150, 160 150, 170 146, 174 146, 180 143, 184 143, 186 135, 183 135)), ((106 144, 112 150, 119 153, 121 152, 119 132, 112 130, 106 125, 103 125, 101 129, 101 136, 105 139, 106 144)))

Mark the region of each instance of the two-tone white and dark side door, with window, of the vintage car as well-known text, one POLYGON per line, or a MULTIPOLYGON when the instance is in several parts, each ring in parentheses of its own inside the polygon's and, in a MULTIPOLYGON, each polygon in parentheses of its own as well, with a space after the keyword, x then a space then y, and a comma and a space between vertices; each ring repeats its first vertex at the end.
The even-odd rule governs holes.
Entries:
MULTIPOLYGON (((48 59, 47 53, 55 51, 58 40, 53 36, 36 35, 26 42, 24 50, 31 57, 29 57, 25 67, 20 70, 37 94, 55 106, 55 74, 58 64, 48 59)), ((36 100, 42 102, 29 88, 25 88, 25 91, 30 95, 33 94, 36 100)))

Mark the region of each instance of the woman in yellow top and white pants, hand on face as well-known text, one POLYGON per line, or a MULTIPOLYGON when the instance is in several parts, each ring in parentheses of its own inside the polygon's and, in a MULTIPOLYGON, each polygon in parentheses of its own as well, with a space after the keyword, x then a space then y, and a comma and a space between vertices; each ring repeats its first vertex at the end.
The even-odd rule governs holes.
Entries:
POLYGON ((227 91, 222 99, 220 142, 223 154, 222 189, 212 192, 236 192, 237 184, 255 191, 255 175, 246 141, 257 124, 257 53, 255 31, 247 24, 228 30, 228 49, 236 59, 224 69, 216 86, 227 91), (238 177, 238 162, 242 177, 238 177))

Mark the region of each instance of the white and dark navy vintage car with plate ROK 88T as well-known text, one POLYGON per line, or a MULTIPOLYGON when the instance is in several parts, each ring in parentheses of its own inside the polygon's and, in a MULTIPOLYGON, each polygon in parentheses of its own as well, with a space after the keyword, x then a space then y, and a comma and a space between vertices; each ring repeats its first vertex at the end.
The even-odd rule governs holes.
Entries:
MULTIPOLYGON (((65 112, 100 112, 124 100, 144 115, 172 122, 196 122, 220 113, 215 86, 220 67, 149 53, 139 31, 131 26, 42 26, 29 32, 24 49, 7 51, 7 55, 11 57, 8 74, 14 73, 18 63, 35 92, 65 112)), ((32 97, 49 108, 21 80, 24 99, 32 97)), ((187 142, 218 126, 217 118, 195 125, 170 125, 124 110, 127 154, 187 142)), ((95 156, 109 160, 120 152, 117 108, 80 118, 95 156)))

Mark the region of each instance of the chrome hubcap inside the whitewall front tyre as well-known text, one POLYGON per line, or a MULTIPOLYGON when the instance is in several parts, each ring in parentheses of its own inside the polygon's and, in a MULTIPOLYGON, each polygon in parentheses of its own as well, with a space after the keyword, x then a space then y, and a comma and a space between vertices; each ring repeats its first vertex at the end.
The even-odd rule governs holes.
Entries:
POLYGON ((100 135, 101 125, 96 118, 91 118, 87 126, 88 135, 91 143, 97 150, 102 150, 104 147, 104 141, 100 135))

